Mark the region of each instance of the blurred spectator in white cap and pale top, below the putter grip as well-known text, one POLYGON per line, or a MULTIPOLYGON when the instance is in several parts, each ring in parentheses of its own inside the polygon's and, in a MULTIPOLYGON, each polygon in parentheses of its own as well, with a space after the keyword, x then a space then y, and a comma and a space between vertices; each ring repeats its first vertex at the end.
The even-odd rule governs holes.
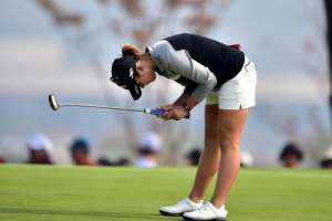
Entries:
POLYGON ((136 167, 157 167, 157 154, 162 147, 162 138, 157 133, 146 133, 138 145, 138 158, 136 167))

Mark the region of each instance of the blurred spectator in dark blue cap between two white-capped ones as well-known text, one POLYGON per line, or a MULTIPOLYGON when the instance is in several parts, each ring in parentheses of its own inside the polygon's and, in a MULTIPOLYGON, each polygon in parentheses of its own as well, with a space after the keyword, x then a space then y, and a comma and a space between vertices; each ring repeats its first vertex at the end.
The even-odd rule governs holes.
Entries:
POLYGON ((85 139, 75 139, 71 145, 70 150, 72 152, 72 159, 75 165, 80 166, 93 166, 93 161, 89 156, 90 147, 85 139))

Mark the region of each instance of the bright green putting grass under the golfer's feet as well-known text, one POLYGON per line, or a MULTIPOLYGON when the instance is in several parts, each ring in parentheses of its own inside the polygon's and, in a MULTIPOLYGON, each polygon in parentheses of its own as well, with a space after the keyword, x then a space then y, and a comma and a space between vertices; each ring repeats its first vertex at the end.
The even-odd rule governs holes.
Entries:
MULTIPOLYGON (((188 194, 195 171, 1 165, 0 220, 181 220, 158 209, 188 194)), ((328 170, 241 169, 227 220, 331 220, 331 181, 328 170)))

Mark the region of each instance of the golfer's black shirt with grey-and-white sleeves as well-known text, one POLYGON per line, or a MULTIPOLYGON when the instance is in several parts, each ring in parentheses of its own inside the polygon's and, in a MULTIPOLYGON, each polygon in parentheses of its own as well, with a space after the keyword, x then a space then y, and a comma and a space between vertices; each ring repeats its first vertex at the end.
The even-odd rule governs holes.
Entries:
POLYGON ((242 69, 245 54, 215 40, 195 34, 166 38, 148 51, 156 72, 185 86, 185 93, 201 102, 242 69))

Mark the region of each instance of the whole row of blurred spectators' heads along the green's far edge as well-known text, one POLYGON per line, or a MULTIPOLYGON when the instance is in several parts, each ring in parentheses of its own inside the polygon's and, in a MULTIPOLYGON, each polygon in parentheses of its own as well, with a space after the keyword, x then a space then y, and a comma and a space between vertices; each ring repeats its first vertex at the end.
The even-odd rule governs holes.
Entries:
MULTIPOLYGON (((53 165, 52 159, 53 144, 50 138, 41 133, 32 135, 28 143, 29 160, 27 164, 42 164, 53 165)), ((96 160, 91 158, 91 146, 85 138, 75 138, 69 146, 69 154, 73 165, 77 166, 135 166, 153 168, 158 167, 158 154, 163 148, 163 139, 160 135, 155 131, 148 131, 142 136, 137 144, 137 156, 132 162, 128 158, 120 158, 116 161, 111 161, 107 158, 98 158, 96 160)), ((189 150, 184 158, 186 165, 197 166, 201 155, 200 147, 194 147, 189 150)), ((279 161, 280 166, 284 168, 299 168, 304 158, 304 152, 295 143, 288 143, 280 151, 279 161)), ((0 164, 6 162, 0 156, 0 164)), ((240 166, 252 167, 255 159, 248 151, 240 152, 240 166)), ((330 147, 321 157, 319 161, 321 168, 332 169, 332 147, 330 147)))

